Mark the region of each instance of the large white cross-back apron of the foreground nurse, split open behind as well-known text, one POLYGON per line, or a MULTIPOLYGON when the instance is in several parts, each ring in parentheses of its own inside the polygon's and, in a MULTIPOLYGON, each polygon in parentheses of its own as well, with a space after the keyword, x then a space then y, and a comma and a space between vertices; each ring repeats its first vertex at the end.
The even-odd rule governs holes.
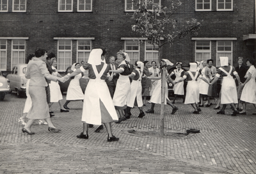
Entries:
POLYGON ((98 73, 95 65, 92 65, 96 79, 90 79, 84 92, 84 104, 82 122, 93 125, 101 125, 100 101, 106 107, 109 115, 113 120, 118 120, 115 106, 113 105, 108 85, 105 80, 100 79, 107 68, 105 63, 100 73, 98 73))

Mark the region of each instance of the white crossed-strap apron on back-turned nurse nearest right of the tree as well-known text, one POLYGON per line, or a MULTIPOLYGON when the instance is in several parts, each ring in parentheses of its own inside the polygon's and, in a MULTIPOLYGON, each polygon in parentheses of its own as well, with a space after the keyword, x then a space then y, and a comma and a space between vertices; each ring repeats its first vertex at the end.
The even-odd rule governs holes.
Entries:
POLYGON ((199 102, 199 87, 196 81, 198 72, 196 72, 195 77, 190 71, 188 71, 188 74, 192 78, 192 81, 188 81, 184 104, 197 104, 199 102))

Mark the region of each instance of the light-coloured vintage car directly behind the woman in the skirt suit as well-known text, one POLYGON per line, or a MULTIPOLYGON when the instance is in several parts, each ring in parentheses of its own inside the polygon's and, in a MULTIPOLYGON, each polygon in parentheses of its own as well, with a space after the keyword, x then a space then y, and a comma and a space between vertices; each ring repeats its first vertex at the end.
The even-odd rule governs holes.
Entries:
POLYGON ((6 77, 10 81, 11 91, 17 92, 18 97, 22 97, 26 93, 26 83, 28 81, 25 77, 26 69, 27 64, 15 65, 11 74, 6 77))

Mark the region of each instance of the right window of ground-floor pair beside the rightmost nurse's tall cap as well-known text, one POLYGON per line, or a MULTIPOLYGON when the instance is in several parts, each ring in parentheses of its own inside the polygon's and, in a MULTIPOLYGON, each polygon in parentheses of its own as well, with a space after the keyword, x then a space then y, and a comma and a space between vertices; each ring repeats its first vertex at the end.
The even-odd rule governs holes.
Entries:
POLYGON ((220 57, 228 57, 228 63, 233 64, 232 41, 217 41, 217 67, 220 67, 220 57))

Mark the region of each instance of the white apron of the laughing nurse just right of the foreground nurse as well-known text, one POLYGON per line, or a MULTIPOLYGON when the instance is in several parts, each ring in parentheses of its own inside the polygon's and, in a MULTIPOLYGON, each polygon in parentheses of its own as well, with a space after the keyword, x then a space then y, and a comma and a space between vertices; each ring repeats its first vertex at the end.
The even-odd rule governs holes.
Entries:
POLYGON ((114 106, 123 107, 127 104, 127 95, 131 90, 131 82, 128 75, 119 75, 116 82, 116 90, 113 97, 114 106))

